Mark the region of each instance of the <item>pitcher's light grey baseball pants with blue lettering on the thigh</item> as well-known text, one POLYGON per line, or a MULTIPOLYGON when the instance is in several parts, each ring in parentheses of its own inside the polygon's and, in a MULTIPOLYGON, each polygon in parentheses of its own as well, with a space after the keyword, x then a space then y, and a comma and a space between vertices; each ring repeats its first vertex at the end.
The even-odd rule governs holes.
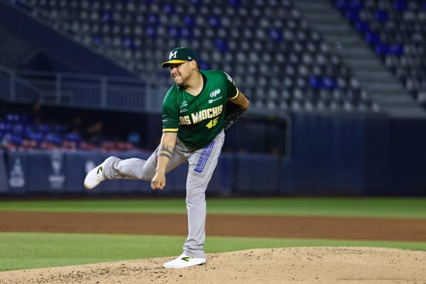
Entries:
MULTIPOLYGON (((189 164, 186 182, 188 236, 183 246, 183 251, 187 256, 206 258, 203 249, 206 223, 205 192, 214 168, 216 168, 224 139, 225 134, 222 130, 209 145, 200 149, 192 149, 185 146, 178 138, 166 168, 166 173, 168 173, 185 161, 189 164)), ((105 165, 104 173, 109 179, 126 178, 151 181, 155 175, 157 152, 158 148, 148 160, 117 158, 109 165, 105 165)))

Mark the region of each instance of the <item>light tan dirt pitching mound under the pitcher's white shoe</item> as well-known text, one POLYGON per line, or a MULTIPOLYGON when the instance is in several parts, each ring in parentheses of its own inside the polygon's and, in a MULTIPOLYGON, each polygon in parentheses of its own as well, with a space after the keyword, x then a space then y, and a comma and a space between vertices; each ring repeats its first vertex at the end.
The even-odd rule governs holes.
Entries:
POLYGON ((210 253, 204 266, 165 269, 171 258, 0 273, 0 283, 416 283, 426 252, 360 247, 252 249, 210 253))

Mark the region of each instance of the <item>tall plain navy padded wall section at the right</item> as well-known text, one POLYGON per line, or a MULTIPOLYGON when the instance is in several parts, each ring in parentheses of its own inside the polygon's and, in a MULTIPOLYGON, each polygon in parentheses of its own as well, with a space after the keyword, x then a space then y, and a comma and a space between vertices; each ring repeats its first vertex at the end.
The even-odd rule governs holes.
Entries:
POLYGON ((426 119, 296 114, 292 129, 297 194, 426 195, 426 119))

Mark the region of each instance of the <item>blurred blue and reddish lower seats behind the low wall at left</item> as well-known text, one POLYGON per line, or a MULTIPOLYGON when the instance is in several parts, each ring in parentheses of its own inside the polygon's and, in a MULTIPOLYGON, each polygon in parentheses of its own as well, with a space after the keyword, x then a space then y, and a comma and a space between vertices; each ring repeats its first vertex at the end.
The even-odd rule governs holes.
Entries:
POLYGON ((141 149, 138 131, 105 132, 104 121, 107 119, 87 119, 87 116, 75 114, 75 111, 62 116, 55 115, 42 110, 38 102, 30 108, 16 105, 5 107, 0 114, 1 148, 10 151, 141 149))

